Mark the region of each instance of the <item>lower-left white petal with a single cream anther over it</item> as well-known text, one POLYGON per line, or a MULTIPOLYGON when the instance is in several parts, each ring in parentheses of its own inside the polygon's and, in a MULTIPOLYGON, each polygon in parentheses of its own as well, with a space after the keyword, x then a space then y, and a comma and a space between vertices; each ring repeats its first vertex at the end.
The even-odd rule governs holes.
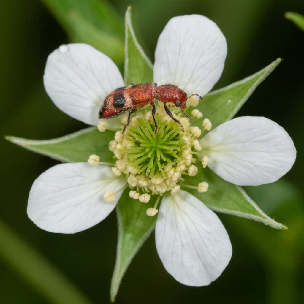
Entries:
POLYGON ((110 167, 88 163, 56 165, 42 173, 29 192, 27 214, 41 229, 75 233, 102 221, 115 208, 116 200, 106 202, 107 191, 118 191, 126 184, 110 167))

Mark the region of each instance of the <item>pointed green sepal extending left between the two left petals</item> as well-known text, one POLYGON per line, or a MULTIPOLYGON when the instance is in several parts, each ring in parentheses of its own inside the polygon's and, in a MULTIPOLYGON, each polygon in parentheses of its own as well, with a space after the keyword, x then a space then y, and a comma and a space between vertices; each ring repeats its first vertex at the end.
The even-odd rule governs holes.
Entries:
POLYGON ((49 156, 63 162, 87 161, 91 154, 97 154, 100 161, 113 163, 113 153, 109 150, 109 141, 115 132, 99 132, 96 127, 89 127, 69 135, 50 140, 29 140, 6 136, 12 143, 33 152, 49 156))

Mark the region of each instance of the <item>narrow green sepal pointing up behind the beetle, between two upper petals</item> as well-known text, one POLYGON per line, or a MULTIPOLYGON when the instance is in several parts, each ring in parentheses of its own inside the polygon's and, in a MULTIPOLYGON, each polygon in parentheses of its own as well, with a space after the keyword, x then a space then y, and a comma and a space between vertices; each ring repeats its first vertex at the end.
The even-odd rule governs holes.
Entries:
POLYGON ((153 64, 144 53, 135 36, 130 6, 126 11, 125 31, 125 85, 153 82, 153 64))

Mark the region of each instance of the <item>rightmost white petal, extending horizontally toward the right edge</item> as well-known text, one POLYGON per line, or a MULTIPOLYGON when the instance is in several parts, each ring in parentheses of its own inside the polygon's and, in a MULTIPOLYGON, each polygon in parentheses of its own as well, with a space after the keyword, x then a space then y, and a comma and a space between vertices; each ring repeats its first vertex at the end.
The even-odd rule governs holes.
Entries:
POLYGON ((232 119, 200 140, 208 167, 236 185, 261 185, 278 180, 295 162, 288 133, 265 117, 232 119))

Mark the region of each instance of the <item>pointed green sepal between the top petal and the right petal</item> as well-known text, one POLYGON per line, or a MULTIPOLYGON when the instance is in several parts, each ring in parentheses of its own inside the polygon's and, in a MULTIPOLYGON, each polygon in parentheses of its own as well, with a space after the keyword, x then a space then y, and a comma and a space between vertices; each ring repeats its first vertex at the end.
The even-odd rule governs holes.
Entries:
MULTIPOLYGON (((237 114, 257 86, 278 66, 281 59, 278 58, 264 67, 261 71, 237 81, 219 90, 210 92, 200 101, 198 106, 204 117, 212 122, 212 129, 230 120, 237 114)), ((191 124, 202 127, 202 120, 194 118, 191 124)))

